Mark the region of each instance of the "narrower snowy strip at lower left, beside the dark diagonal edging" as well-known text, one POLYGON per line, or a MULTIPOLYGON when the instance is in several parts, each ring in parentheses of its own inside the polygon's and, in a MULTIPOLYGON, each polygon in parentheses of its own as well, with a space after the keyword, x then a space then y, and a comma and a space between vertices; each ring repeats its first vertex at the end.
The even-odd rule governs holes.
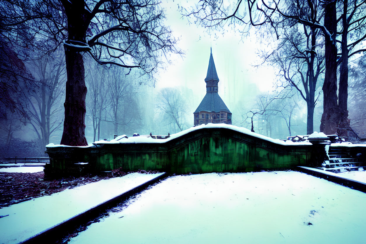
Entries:
POLYGON ((25 241, 162 174, 127 174, 4 207, 0 243, 25 241))

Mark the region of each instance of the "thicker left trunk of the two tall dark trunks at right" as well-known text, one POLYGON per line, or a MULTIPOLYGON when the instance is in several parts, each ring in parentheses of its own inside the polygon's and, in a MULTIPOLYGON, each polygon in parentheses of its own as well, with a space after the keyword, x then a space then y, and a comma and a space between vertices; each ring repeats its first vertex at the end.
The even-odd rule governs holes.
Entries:
POLYGON ((324 26, 332 36, 325 35, 324 111, 320 131, 329 135, 337 132, 340 117, 337 103, 336 1, 325 5, 324 26))

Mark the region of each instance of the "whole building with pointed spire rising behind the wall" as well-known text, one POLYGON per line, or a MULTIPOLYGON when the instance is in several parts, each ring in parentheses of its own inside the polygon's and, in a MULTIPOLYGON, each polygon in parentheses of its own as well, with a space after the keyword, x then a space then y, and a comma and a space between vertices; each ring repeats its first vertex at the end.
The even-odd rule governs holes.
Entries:
POLYGON ((231 124, 231 112, 218 93, 219 76, 217 76, 215 63, 213 61, 212 48, 205 82, 206 95, 193 113, 194 125, 207 123, 231 124))

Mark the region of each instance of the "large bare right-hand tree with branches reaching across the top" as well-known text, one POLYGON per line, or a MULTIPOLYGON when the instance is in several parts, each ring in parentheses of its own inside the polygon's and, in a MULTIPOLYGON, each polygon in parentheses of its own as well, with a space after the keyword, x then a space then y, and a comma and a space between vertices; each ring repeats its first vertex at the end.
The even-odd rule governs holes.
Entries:
MULTIPOLYGON (((320 130, 326 134, 338 132, 340 135, 344 131, 341 126, 348 123, 347 113, 343 102, 342 109, 339 107, 337 96, 337 24, 342 18, 337 18, 337 0, 323 1, 292 1, 292 0, 247 0, 237 1, 236 4, 224 4, 220 1, 201 0, 191 10, 182 9, 185 16, 195 16, 199 25, 209 28, 221 28, 224 25, 235 26, 244 25, 242 32, 247 31, 248 25, 251 26, 270 26, 274 30, 277 38, 280 30, 285 27, 297 27, 293 23, 301 23, 311 29, 318 29, 325 37, 325 79, 323 83, 323 115, 320 130), (315 18, 314 18, 315 17, 315 18), (288 25, 288 22, 292 23, 288 25), (324 24, 323 24, 324 23, 324 24)), ((347 5, 347 1, 339 1, 347 5)), ((365 9, 364 1, 352 1, 353 9, 365 9), (362 8, 363 7, 363 8, 362 8)), ((348 6, 348 5, 347 5, 348 6)), ((352 4, 350 5, 352 6, 352 4)), ((347 7, 347 15, 351 16, 352 7, 347 7)), ((345 16, 345 15, 343 15, 345 16)), ((348 18, 347 17, 347 18, 348 18)), ((344 18, 345 19, 345 18, 344 18)), ((364 18, 355 19, 355 25, 363 29, 364 18)), ((347 20, 348 21, 348 20, 347 20)), ((196 22, 196 21, 195 21, 196 22)), ((346 26, 346 25, 345 25, 346 26)), ((351 27, 351 30, 354 27, 351 27)), ((350 32, 349 30, 346 32, 350 32)), ((264 33, 266 37, 272 33, 264 33)), ((363 37, 363 34, 360 36, 363 37)), ((347 46, 352 44, 347 44, 347 46)), ((350 47, 348 46, 348 47, 350 47)), ((349 56, 349 55, 348 55, 349 56)), ((346 64, 346 61, 344 62, 346 64)), ((347 65, 346 65, 347 66, 347 65)), ((346 73, 346 72, 345 72, 346 73)), ((346 97, 346 86, 340 86, 340 96, 346 97)), ((344 100, 341 98, 340 101, 344 100)), ((341 102, 342 104, 342 102, 341 102)))

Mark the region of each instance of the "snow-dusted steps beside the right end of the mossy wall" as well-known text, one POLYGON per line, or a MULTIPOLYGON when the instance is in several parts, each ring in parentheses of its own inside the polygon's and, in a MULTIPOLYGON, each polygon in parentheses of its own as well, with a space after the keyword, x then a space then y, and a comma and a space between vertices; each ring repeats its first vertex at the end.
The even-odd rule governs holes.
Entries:
POLYGON ((342 173, 347 171, 358 170, 363 167, 363 162, 358 157, 352 157, 349 153, 342 149, 332 149, 328 151, 329 162, 325 161, 320 169, 333 173, 342 173))

